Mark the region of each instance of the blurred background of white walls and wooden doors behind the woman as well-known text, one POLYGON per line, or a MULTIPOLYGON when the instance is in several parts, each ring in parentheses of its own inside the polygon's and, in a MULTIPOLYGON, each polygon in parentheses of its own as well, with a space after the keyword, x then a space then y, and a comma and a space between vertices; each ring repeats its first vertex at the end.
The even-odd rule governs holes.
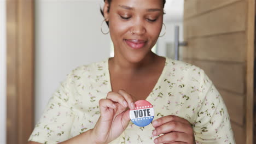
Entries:
MULTIPOLYGON (((28 139, 72 69, 113 56, 109 34, 100 30, 102 6, 103 0, 0 1, 1 144, 28 139)), ((253 143, 254 11, 254 0, 166 0, 166 34, 153 49, 206 71, 237 143, 253 143)))

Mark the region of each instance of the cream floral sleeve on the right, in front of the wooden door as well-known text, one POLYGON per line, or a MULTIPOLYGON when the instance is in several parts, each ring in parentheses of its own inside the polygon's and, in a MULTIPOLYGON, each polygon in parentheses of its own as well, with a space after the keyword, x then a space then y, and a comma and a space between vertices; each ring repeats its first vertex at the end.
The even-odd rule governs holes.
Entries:
POLYGON ((224 101, 206 75, 203 81, 208 81, 208 88, 197 111, 196 122, 193 124, 196 143, 233 144, 234 135, 224 101))

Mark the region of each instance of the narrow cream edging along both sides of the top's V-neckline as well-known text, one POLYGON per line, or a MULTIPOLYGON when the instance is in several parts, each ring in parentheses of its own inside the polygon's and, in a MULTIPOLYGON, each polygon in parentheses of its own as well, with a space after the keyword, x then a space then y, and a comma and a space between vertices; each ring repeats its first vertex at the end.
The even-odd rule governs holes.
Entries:
MULTIPOLYGON (((146 97, 145 100, 150 101, 149 100, 150 95, 152 95, 154 89, 158 88, 160 85, 160 82, 162 81, 162 79, 164 79, 167 63, 168 63, 168 58, 165 57, 165 65, 164 65, 164 68, 162 69, 161 75, 158 77, 158 81, 155 83, 154 88, 150 91, 149 95, 146 97)), ((107 76, 107 81, 108 81, 108 86, 109 86, 108 88, 109 88, 109 92, 112 92, 112 85, 111 85, 110 71, 109 71, 109 58, 107 58, 107 60, 106 60, 106 68, 107 68, 106 76, 107 76)))

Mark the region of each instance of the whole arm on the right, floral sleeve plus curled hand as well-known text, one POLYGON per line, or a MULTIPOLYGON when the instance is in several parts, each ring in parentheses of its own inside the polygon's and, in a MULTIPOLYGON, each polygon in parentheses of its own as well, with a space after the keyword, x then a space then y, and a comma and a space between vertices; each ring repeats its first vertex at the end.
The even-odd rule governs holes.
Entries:
POLYGON ((197 77, 197 80, 200 83, 194 83, 194 85, 205 89, 205 91, 196 93, 196 97, 198 96, 200 99, 196 102, 198 108, 194 114, 196 115, 195 121, 193 120, 193 123, 190 124, 183 118, 171 115, 156 119, 153 122, 155 130, 152 134, 154 136, 158 136, 159 134, 164 135, 156 138, 155 143, 235 143, 228 111, 226 110, 222 97, 205 73, 200 71, 199 74, 201 76, 199 78, 197 77))

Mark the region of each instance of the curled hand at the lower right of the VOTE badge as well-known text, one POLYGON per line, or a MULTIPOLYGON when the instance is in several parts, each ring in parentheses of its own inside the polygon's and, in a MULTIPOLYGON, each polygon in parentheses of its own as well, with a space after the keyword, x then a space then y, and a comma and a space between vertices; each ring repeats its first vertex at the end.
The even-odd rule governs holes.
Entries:
POLYGON ((169 115, 156 119, 153 123, 154 136, 159 136, 154 143, 188 143, 195 144, 195 136, 190 123, 181 117, 169 115))

